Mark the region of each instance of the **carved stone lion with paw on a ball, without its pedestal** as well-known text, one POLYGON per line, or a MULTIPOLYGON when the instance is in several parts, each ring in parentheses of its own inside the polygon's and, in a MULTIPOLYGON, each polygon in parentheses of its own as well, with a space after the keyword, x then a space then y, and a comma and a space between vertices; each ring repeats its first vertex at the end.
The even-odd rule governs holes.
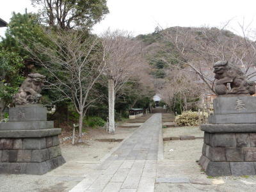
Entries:
POLYGON ((228 65, 228 61, 218 61, 214 63, 214 74, 217 79, 215 84, 215 92, 217 95, 255 94, 255 83, 247 81, 244 73, 237 67, 228 65), (228 89, 230 83, 230 89, 228 89))

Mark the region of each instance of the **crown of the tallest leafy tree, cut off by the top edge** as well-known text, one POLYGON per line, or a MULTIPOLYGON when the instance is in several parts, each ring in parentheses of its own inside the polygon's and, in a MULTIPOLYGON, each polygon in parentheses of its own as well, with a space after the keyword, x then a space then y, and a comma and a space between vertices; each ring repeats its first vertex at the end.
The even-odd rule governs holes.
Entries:
POLYGON ((42 21, 61 29, 91 29, 109 13, 106 0, 31 0, 41 6, 42 21))

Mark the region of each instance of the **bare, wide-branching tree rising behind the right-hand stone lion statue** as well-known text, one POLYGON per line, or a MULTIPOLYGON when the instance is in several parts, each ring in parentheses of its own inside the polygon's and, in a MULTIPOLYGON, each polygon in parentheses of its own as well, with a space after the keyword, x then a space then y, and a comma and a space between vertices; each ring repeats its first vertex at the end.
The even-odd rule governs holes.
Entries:
POLYGON ((164 40, 172 44, 168 50, 170 58, 177 63, 168 65, 180 70, 194 72, 207 87, 214 92, 212 64, 218 60, 228 60, 232 65, 243 68, 248 78, 255 76, 250 70, 256 58, 255 42, 248 38, 246 29, 241 25, 243 36, 234 35, 224 28, 170 28, 161 33, 164 40))

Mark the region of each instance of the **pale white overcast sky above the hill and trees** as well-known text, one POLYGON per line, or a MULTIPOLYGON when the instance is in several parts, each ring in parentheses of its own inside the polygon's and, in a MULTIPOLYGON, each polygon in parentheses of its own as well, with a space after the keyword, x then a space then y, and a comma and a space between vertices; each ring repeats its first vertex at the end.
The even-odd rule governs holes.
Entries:
MULTIPOLYGON (((35 12, 30 0, 1 0, 0 18, 9 21, 12 12, 35 12)), ((124 29, 134 35, 154 32, 157 25, 217 26, 232 19, 229 29, 239 32, 239 22, 256 29, 255 0, 108 0, 109 14, 93 28, 94 33, 124 29)), ((3 36, 4 28, 0 28, 3 36)))

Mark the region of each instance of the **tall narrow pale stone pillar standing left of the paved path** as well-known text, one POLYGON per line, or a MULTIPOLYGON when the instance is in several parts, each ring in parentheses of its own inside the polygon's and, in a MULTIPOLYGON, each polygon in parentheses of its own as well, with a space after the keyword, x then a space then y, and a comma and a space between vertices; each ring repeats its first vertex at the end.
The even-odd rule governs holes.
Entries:
POLYGON ((113 133, 115 132, 115 92, 113 79, 108 79, 108 120, 108 132, 113 133))

